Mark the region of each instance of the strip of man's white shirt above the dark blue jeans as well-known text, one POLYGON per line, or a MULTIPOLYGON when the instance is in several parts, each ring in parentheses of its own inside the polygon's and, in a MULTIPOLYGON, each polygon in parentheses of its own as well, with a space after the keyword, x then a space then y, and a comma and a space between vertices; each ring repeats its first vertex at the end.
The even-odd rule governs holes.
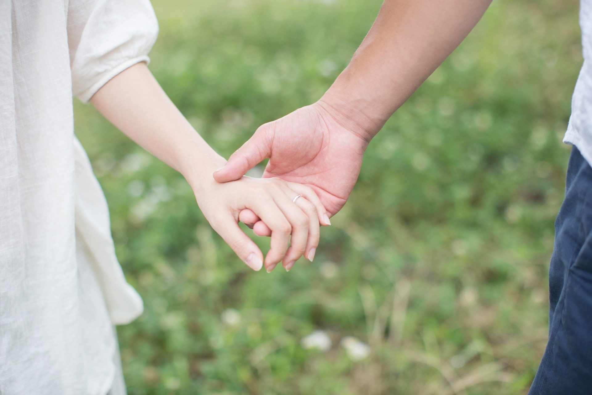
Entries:
POLYGON ((580 1, 580 28, 584 64, 575 83, 570 123, 563 141, 578 147, 592 164, 592 0, 580 1))

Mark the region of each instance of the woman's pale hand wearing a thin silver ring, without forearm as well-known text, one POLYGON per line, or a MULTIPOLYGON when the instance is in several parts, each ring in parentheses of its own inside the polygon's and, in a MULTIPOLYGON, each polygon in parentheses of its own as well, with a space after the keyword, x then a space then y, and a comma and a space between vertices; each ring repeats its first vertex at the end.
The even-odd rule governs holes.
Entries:
POLYGON ((289 271, 303 255, 313 260, 320 236, 318 218, 325 210, 310 188, 279 178, 246 176, 219 184, 211 175, 210 181, 192 187, 197 203, 213 229, 253 270, 261 269, 263 255, 239 227, 242 210, 243 216, 255 215, 271 229, 271 249, 265 257, 268 272, 280 261, 289 271), (294 201, 298 195, 301 197, 294 201))

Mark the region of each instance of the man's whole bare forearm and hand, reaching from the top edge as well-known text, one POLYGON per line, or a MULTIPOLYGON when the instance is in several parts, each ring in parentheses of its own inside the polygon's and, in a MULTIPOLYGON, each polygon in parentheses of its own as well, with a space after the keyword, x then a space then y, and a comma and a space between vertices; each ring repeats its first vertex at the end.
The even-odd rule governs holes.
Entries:
MULTIPOLYGON (((261 126, 214 173, 229 182, 265 158, 264 177, 308 185, 334 215, 388 118, 461 43, 491 0, 385 0, 348 67, 313 105, 261 126)), ((258 235, 271 235, 249 213, 258 235)))

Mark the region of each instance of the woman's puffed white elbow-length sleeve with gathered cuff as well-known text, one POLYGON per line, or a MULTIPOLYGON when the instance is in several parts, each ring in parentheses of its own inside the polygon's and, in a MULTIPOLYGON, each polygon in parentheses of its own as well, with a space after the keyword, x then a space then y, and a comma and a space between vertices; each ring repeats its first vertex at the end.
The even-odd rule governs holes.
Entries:
POLYGON ((81 101, 128 67, 149 62, 158 35, 149 0, 70 0, 67 18, 72 93, 81 101))

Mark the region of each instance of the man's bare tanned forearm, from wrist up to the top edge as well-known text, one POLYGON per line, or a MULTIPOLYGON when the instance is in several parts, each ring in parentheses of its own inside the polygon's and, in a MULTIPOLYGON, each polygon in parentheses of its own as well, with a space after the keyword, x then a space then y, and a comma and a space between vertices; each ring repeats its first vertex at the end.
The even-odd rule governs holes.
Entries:
POLYGON ((385 0, 319 104, 372 139, 477 24, 491 0, 385 0))

